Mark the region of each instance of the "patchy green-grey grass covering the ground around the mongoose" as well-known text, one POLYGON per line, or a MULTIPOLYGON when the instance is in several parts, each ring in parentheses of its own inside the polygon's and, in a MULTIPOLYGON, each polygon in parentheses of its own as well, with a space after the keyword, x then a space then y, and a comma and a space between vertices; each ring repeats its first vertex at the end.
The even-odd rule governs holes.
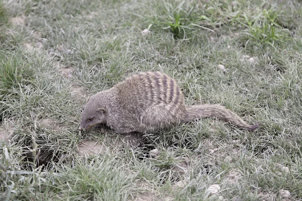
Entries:
POLYGON ((300 200, 301 19, 297 0, 2 1, 0 199, 300 200), (78 131, 88 96, 145 70, 175 78, 186 104, 221 104, 260 129, 78 131), (87 139, 106 149, 81 157, 87 139))

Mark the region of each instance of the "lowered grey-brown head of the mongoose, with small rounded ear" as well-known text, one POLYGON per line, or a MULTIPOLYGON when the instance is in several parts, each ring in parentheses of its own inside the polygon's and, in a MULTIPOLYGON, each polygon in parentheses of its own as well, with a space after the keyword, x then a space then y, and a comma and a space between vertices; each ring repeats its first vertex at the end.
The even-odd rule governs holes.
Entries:
POLYGON ((107 114, 107 109, 100 106, 98 99, 92 96, 84 107, 79 130, 89 130, 98 124, 106 123, 107 114))

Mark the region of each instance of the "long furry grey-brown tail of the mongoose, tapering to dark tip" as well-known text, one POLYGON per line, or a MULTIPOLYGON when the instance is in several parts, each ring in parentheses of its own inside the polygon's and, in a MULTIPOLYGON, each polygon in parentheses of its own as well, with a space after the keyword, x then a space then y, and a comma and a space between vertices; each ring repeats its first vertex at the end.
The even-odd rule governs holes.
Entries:
POLYGON ((220 105, 197 105, 186 107, 186 112, 181 117, 181 122, 191 122, 196 118, 209 118, 209 117, 218 117, 225 121, 231 122, 232 124, 246 128, 248 130, 255 130, 258 128, 258 125, 249 125, 243 121, 237 114, 233 113, 229 109, 224 108, 220 105))

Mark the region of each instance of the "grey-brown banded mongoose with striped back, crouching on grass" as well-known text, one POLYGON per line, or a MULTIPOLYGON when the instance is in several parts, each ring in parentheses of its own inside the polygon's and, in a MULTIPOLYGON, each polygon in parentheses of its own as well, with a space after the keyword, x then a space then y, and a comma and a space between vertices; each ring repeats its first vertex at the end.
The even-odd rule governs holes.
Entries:
POLYGON ((161 72, 140 72, 91 96, 84 107, 79 129, 89 130, 105 124, 120 134, 144 133, 209 117, 218 117, 248 130, 258 128, 220 105, 185 106, 184 95, 174 79, 161 72))

